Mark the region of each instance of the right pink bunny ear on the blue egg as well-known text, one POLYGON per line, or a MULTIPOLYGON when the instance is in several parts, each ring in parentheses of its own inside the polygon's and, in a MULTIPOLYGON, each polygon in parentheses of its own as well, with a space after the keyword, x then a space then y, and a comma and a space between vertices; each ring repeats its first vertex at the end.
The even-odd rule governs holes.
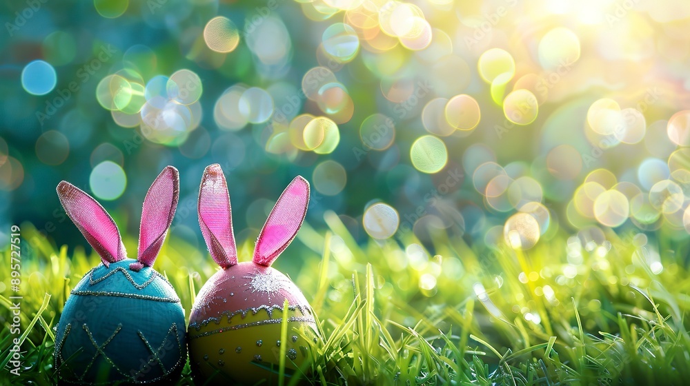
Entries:
POLYGON ((166 168, 153 181, 144 199, 139 227, 139 263, 132 263, 132 270, 150 267, 158 256, 166 239, 168 228, 175 216, 179 199, 179 172, 172 166, 166 168))

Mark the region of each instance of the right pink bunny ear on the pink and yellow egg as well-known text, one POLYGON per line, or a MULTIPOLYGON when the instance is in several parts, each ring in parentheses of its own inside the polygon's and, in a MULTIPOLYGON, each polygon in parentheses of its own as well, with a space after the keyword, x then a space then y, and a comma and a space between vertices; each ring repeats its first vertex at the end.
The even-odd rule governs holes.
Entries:
POLYGON ((270 265, 297 236, 309 205, 309 183, 297 176, 270 211, 254 249, 254 263, 270 265))

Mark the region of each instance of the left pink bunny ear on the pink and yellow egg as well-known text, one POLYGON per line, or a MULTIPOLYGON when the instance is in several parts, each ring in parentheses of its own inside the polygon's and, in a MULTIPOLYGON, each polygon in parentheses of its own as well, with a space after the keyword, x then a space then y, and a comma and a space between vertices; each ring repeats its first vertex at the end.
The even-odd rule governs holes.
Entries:
POLYGON ((228 183, 220 165, 208 165, 199 186, 199 226, 213 260, 223 268, 237 264, 228 183))

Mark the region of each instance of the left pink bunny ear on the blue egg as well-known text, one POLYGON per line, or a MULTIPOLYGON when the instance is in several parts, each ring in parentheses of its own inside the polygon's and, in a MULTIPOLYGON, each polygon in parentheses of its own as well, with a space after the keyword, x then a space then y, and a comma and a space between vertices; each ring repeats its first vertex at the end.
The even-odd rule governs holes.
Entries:
POLYGON ((67 181, 57 185, 57 195, 72 222, 101 256, 103 265, 108 267, 127 257, 115 221, 92 196, 67 181))

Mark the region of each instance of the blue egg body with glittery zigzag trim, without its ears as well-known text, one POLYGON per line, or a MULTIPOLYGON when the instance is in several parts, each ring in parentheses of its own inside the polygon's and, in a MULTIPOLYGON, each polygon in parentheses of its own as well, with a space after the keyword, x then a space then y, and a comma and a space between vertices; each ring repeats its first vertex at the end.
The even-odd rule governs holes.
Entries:
POLYGON ((130 258, 101 264, 65 303, 55 336, 61 383, 161 383, 179 377, 187 356, 184 310, 172 285, 130 258))

